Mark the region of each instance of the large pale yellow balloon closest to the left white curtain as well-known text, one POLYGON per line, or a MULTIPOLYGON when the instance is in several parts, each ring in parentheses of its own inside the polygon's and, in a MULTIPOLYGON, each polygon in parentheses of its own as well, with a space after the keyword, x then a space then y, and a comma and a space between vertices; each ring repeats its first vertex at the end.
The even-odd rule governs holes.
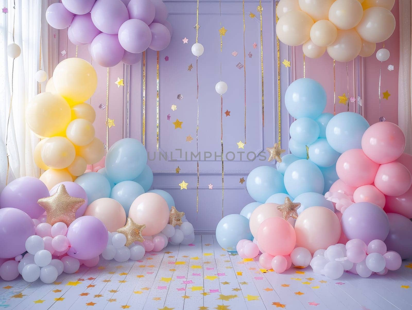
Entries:
POLYGON ((39 93, 26 107, 26 122, 40 137, 61 135, 70 119, 69 105, 56 93, 39 93))

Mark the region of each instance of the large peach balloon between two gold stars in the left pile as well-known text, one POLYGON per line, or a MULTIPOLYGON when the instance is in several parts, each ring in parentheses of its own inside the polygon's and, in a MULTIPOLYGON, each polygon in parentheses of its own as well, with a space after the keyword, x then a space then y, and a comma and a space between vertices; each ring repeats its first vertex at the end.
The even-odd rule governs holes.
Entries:
POLYGON ((169 207, 162 196, 144 193, 131 204, 129 217, 137 224, 146 225, 143 235, 156 235, 169 221, 169 207))

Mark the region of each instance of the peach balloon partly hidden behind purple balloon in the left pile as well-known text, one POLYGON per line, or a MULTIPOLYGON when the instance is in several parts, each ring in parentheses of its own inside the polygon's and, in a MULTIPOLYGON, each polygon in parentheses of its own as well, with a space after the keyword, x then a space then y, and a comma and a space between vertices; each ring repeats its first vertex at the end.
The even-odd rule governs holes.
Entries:
POLYGON ((94 200, 84 212, 100 219, 110 232, 117 231, 126 224, 126 212, 122 205, 112 198, 99 198, 94 200))

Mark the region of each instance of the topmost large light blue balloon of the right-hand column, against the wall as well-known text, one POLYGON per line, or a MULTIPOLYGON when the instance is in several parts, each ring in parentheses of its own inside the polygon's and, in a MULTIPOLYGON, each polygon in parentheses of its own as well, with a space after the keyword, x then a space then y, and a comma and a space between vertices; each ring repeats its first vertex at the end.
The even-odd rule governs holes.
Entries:
POLYGON ((325 89, 314 79, 297 79, 286 89, 285 105, 295 119, 316 119, 326 107, 325 89))

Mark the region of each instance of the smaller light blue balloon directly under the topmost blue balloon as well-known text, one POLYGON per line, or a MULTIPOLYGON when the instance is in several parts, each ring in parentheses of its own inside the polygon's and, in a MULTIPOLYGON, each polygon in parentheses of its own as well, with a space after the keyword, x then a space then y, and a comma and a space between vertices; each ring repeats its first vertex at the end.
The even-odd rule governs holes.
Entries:
POLYGON ((319 137, 319 131, 318 123, 308 117, 297 119, 289 128, 290 138, 304 145, 315 142, 319 137))

